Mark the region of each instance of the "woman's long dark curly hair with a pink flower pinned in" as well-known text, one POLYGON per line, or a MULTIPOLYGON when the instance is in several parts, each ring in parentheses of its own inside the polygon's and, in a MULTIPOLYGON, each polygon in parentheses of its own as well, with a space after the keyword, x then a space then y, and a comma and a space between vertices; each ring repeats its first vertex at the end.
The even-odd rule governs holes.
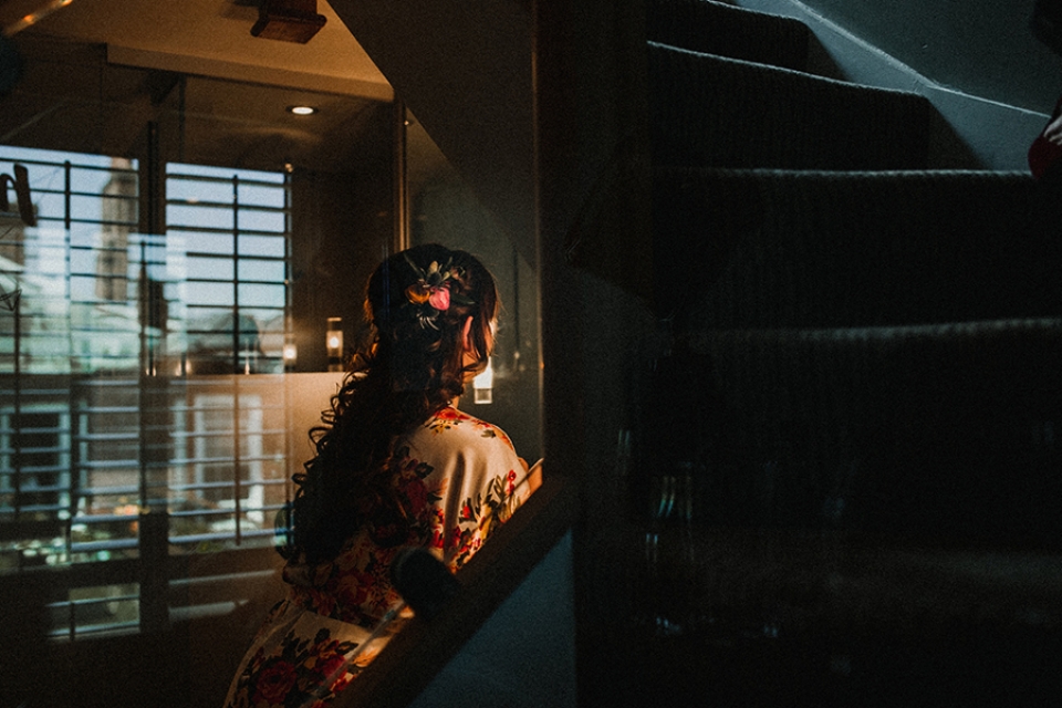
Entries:
POLYGON ((316 456, 293 478, 285 555, 331 560, 366 523, 382 544, 406 541, 408 521, 387 467, 395 440, 460 396, 487 365, 497 310, 494 279, 470 253, 425 244, 381 263, 365 298, 374 341, 355 355, 323 425, 311 430, 316 456), (440 289, 445 309, 433 306, 444 304, 437 299, 417 302, 440 289))

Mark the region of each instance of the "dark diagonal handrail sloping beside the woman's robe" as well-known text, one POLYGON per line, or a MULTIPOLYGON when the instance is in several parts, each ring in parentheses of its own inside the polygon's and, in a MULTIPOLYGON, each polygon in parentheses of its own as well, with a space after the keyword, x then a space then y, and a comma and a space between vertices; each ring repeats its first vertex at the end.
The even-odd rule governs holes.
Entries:
POLYGON ((575 522, 574 482, 556 475, 497 529, 457 574, 461 590, 426 620, 414 617, 333 701, 334 708, 405 708, 524 581, 575 522))

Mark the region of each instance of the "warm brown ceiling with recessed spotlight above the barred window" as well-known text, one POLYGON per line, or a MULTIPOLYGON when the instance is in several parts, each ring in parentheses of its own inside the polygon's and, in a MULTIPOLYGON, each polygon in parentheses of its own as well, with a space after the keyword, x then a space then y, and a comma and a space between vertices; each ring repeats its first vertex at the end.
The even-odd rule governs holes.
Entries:
MULTIPOLYGON (((0 27, 54 4, 0 0, 0 27)), ((252 37, 258 4, 73 0, 54 9, 11 38, 25 70, 0 100, 0 144, 128 155, 153 122, 170 159, 348 167, 353 146, 391 114, 389 84, 323 0, 327 21, 305 44, 252 37), (285 111, 296 104, 319 113, 285 111)))

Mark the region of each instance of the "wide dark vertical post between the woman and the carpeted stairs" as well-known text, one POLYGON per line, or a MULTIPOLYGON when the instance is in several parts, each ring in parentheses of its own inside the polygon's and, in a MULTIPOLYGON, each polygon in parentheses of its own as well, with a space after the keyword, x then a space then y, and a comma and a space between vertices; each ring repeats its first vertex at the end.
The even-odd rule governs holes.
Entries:
POLYGON ((543 442, 581 493, 574 537, 581 702, 625 704, 616 439, 624 383, 655 332, 643 0, 533 0, 543 442), (590 129, 587 126, 593 126, 590 129))

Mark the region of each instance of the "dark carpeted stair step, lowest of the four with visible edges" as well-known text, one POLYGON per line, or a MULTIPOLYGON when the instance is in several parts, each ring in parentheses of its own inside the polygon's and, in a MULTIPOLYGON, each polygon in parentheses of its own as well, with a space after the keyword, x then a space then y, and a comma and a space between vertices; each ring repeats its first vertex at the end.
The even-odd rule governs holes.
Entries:
POLYGON ((656 368, 643 451, 699 455, 707 523, 1060 548, 1062 319, 685 344, 656 368))

